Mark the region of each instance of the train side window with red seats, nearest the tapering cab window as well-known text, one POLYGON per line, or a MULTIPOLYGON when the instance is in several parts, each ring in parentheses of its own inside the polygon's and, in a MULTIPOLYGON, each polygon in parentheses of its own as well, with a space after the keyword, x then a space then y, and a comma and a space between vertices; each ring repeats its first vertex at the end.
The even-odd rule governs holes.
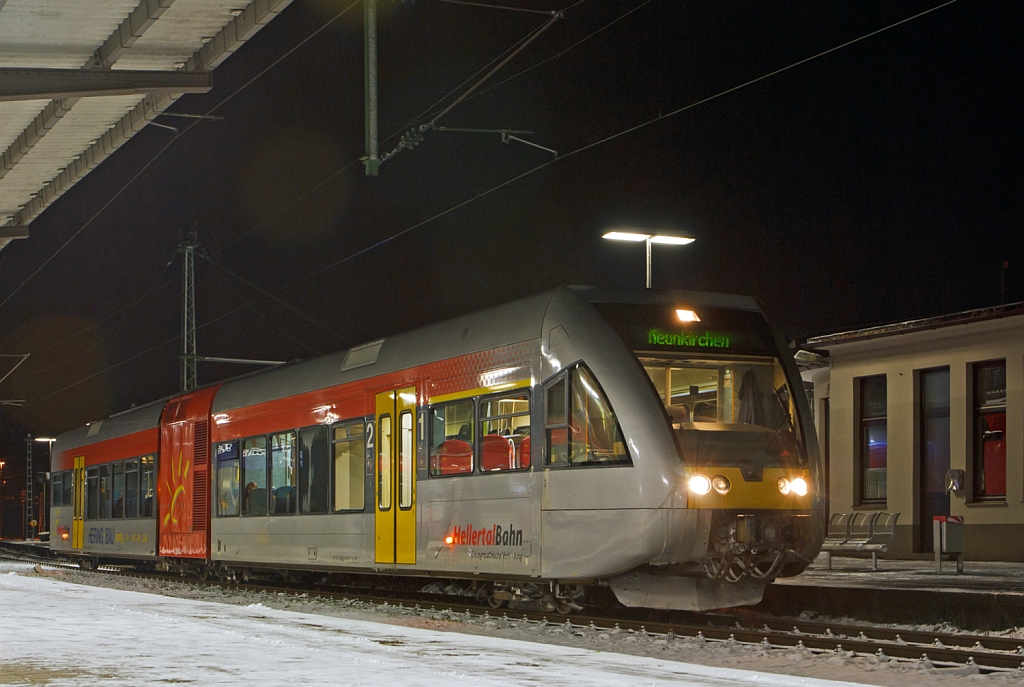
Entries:
POLYGON ((480 400, 480 472, 529 467, 529 393, 480 400))

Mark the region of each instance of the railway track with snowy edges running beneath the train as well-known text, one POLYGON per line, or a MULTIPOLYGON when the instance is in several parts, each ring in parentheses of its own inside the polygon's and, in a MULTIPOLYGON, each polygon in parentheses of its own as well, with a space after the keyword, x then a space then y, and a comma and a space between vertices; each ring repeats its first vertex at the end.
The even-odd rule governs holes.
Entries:
MULTIPOLYGON (((303 594, 325 599, 347 599, 371 604, 404 605, 429 608, 425 612, 451 615, 489 616, 518 622, 550 625, 552 621, 578 636, 586 633, 633 633, 669 641, 694 638, 697 641, 746 645, 754 650, 792 648, 813 654, 830 654, 844 658, 868 657, 876 662, 924 661, 940 668, 977 667, 980 673, 1024 671, 1024 639, 990 635, 932 633, 914 630, 894 630, 870 626, 845 626, 778 617, 758 618, 753 627, 750 616, 729 613, 686 614, 685 619, 659 619, 655 613, 617 609, 610 615, 578 613, 557 615, 550 611, 510 609, 497 610, 477 603, 453 600, 438 594, 412 594, 397 597, 370 593, 356 588, 308 588, 266 584, 200 582, 180 575, 139 572, 117 566, 100 566, 82 570, 72 563, 35 561, 46 568, 81 571, 92 574, 118 574, 147 579, 172 581, 193 585, 214 586, 229 590, 303 594), (499 613, 499 615, 494 615, 499 613), (504 614, 504 615, 502 615, 504 614), (702 621, 701 621, 702 620, 702 621)), ((665 615, 664 612, 657 613, 665 615)))

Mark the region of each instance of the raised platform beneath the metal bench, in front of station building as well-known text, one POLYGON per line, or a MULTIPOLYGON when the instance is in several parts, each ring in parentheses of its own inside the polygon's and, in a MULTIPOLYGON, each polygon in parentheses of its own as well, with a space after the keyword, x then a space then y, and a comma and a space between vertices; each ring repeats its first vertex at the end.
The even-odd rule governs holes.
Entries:
POLYGON ((1024 563, 880 560, 824 555, 796 577, 777 579, 758 610, 775 615, 804 611, 872 622, 950 622, 965 630, 1005 630, 1024 617, 1024 563))

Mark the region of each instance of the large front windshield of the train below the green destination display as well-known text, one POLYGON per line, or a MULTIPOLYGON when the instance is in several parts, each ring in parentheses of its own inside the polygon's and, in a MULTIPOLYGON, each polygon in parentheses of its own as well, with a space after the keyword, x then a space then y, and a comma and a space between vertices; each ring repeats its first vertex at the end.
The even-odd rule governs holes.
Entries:
POLYGON ((776 358, 638 357, 688 464, 807 463, 792 389, 776 358))

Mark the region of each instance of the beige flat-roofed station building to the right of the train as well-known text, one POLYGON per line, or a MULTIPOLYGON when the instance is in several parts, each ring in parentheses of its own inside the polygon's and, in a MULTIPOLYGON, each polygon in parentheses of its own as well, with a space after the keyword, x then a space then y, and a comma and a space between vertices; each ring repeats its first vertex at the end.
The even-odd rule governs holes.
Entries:
POLYGON ((808 339, 830 513, 899 511, 889 556, 1024 561, 1024 302, 808 339))

